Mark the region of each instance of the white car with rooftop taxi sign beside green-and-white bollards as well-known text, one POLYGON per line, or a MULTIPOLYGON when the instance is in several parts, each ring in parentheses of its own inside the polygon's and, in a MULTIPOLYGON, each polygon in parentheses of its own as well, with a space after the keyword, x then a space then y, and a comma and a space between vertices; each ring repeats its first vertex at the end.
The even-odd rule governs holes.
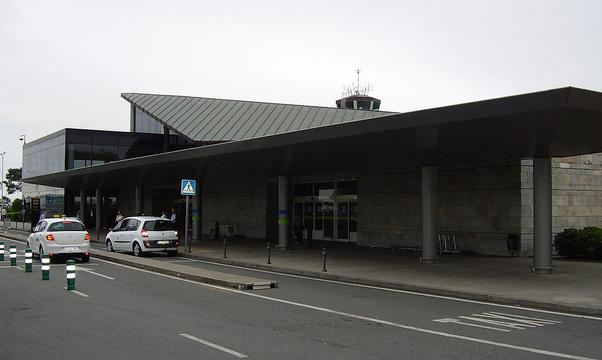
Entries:
POLYGON ((27 238, 27 247, 40 259, 42 254, 79 257, 90 261, 90 234, 77 218, 53 218, 41 220, 27 238))

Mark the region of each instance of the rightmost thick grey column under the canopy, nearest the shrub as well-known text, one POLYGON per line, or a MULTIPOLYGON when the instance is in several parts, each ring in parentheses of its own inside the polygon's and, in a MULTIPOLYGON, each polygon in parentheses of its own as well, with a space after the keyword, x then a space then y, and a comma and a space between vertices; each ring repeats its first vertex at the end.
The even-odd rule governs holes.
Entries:
POLYGON ((552 272, 552 159, 533 159, 534 271, 552 272))

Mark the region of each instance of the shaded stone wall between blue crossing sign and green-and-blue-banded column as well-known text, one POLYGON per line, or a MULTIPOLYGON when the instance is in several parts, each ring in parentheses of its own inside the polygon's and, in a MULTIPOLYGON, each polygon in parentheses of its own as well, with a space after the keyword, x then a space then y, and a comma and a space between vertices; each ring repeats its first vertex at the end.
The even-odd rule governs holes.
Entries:
POLYGON ((203 183, 201 193, 202 233, 207 235, 215 222, 230 222, 239 235, 266 237, 266 189, 263 181, 203 183))

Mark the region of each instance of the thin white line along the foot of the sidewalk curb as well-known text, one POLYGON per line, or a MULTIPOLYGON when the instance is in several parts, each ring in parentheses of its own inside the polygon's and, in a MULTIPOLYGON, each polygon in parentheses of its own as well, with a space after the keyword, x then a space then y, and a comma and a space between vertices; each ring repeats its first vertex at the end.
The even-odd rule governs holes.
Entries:
MULTIPOLYGON (((178 259, 188 259, 188 258, 178 257, 178 259)), ((231 267, 231 268, 236 268, 236 269, 241 269, 241 270, 256 271, 256 272, 261 272, 261 273, 266 273, 266 274, 274 274, 274 275, 278 275, 278 276, 286 276, 286 277, 304 279, 304 280, 320 281, 320 282, 331 283, 331 284, 347 285, 347 286, 359 287, 359 288, 364 288, 364 289, 382 290, 382 291, 388 291, 388 292, 394 292, 394 293, 400 293, 400 294, 409 294, 409 295, 416 295, 416 296, 431 297, 431 298, 436 298, 436 299, 465 302, 465 303, 470 303, 470 304, 489 305, 489 306, 503 307, 503 308, 507 308, 507 309, 517 309, 517 310, 524 310, 524 311, 539 312, 539 313, 544 313, 544 314, 552 314, 552 315, 560 315, 560 316, 568 316, 568 317, 575 317, 575 318, 581 318, 581 319, 602 321, 602 317, 596 317, 596 316, 561 313, 561 312, 552 311, 552 310, 534 309, 534 308, 523 307, 523 306, 518 306, 518 305, 488 303, 488 302, 479 301, 479 300, 461 299, 461 298, 455 298, 455 297, 445 296, 445 295, 425 294, 425 293, 420 293, 420 292, 416 292, 416 291, 383 288, 383 287, 372 286, 372 285, 354 284, 354 283, 348 283, 348 282, 337 281, 337 280, 317 279, 317 278, 312 278, 312 277, 303 276, 303 275, 284 274, 284 273, 279 273, 276 271, 252 269, 252 268, 246 268, 243 266, 221 264, 221 263, 216 263, 216 262, 211 262, 211 261, 206 261, 206 260, 198 260, 198 259, 188 259, 188 260, 194 261, 194 262, 210 264, 210 265, 231 267)))

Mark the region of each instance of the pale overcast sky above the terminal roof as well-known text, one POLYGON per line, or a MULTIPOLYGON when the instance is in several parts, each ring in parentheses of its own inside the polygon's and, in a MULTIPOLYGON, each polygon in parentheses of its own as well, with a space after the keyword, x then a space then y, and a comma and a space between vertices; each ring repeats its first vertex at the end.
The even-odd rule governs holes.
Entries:
POLYGON ((602 1, 0 0, 0 152, 128 130, 122 92, 334 106, 355 69, 382 110, 602 91, 602 1))

